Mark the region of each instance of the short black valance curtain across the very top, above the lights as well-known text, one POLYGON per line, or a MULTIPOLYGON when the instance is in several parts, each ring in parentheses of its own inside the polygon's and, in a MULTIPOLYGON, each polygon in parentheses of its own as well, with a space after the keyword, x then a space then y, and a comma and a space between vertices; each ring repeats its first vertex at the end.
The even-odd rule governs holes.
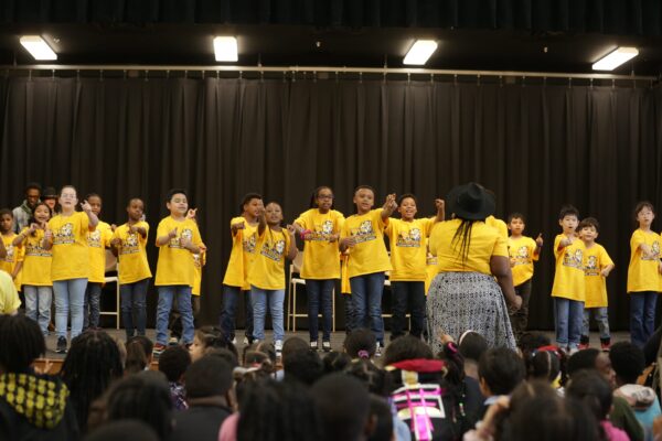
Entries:
POLYGON ((661 35, 659 0, 0 0, 3 23, 302 24, 661 35))

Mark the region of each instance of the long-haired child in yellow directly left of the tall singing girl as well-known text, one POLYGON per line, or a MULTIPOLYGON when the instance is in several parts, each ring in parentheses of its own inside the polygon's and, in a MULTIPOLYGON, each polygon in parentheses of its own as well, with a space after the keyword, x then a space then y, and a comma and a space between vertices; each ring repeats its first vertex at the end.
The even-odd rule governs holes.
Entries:
POLYGON ((44 230, 50 218, 49 206, 43 202, 38 203, 32 211, 29 226, 23 228, 13 240, 13 246, 24 249, 25 256, 21 270, 21 283, 25 294, 25 315, 39 323, 44 336, 49 335, 53 301, 52 252, 42 247, 44 230))

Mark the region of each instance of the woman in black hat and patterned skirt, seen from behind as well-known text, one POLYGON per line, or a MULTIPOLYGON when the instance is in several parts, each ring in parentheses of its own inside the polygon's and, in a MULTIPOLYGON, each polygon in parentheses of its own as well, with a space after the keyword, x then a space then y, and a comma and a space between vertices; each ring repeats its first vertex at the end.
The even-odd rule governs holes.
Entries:
POLYGON ((494 212, 494 197, 477 183, 455 187, 446 197, 452 219, 438 224, 429 239, 437 269, 427 299, 433 348, 440 336, 457 338, 467 330, 481 334, 490 347, 515 348, 508 300, 517 310, 505 239, 484 219, 494 212))

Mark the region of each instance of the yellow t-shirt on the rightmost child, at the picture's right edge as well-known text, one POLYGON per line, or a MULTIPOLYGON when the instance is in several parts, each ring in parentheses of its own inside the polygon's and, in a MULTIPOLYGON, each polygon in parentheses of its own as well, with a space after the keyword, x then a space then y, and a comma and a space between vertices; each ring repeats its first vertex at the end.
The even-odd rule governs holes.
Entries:
POLYGON ((628 292, 662 291, 662 276, 659 272, 660 245, 662 238, 655 232, 634 230, 630 238, 630 265, 628 266, 628 292), (643 256, 639 246, 645 244, 655 255, 643 256))

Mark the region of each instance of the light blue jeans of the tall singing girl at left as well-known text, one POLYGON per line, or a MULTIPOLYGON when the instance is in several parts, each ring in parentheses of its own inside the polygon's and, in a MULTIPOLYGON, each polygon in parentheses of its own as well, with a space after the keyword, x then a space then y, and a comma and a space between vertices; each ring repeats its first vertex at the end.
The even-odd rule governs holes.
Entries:
POLYGON ((66 337, 66 324, 72 312, 72 338, 83 332, 83 305, 87 279, 68 279, 53 282, 55 291, 55 333, 66 337))

